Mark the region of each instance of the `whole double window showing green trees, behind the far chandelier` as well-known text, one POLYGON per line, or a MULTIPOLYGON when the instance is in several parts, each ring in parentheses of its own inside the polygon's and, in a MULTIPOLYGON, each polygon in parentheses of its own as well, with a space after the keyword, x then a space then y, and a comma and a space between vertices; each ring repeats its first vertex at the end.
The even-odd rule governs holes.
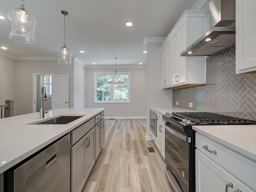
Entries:
POLYGON ((94 73, 94 78, 94 102, 130 102, 130 73, 117 73, 123 84, 109 84, 108 80, 114 78, 112 73, 94 73))

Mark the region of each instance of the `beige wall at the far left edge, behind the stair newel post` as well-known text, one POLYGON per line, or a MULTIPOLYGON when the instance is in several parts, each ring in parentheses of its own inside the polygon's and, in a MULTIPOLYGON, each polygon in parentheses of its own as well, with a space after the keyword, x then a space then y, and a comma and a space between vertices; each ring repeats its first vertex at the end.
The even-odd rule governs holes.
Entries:
MULTIPOLYGON (((16 61, 0 55, 0 104, 5 100, 16 101, 16 61)), ((14 108, 16 103, 14 103, 14 108)), ((14 109, 15 114, 15 109, 14 109)))

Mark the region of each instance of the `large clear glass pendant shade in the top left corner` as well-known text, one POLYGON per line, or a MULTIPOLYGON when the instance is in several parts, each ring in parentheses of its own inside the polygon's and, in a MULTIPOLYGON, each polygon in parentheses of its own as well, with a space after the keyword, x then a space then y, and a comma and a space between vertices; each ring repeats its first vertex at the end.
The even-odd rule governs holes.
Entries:
POLYGON ((7 15, 11 25, 9 38, 22 43, 36 43, 34 37, 36 18, 25 10, 24 0, 21 0, 20 4, 20 8, 8 10, 7 15))

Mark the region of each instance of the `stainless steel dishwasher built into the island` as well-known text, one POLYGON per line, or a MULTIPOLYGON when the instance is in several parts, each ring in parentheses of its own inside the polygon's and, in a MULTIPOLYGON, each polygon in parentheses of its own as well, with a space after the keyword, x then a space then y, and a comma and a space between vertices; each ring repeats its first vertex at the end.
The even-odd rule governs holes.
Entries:
POLYGON ((4 192, 70 192, 70 134, 5 172, 4 192))

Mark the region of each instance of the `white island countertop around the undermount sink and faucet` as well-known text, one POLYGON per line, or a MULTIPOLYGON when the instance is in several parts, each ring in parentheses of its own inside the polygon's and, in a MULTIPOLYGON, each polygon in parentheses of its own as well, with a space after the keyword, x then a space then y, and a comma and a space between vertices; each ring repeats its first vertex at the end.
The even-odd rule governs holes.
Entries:
POLYGON ((0 119, 0 174, 54 140, 83 124, 104 108, 54 109, 39 118, 39 112, 0 119), (68 124, 33 125, 61 115, 84 115, 68 124))

